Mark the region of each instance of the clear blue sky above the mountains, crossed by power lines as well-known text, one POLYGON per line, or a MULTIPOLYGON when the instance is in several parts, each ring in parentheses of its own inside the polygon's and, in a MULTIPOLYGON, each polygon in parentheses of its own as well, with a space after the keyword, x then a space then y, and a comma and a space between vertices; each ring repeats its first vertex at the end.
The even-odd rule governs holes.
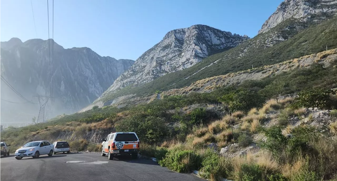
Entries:
MULTIPOLYGON (((283 0, 55 0, 54 40, 136 60, 173 29, 204 24, 254 37, 283 0)), ((47 0, 0 0, 0 41, 48 39, 47 0)), ((52 38, 52 0, 50 38, 52 38)))

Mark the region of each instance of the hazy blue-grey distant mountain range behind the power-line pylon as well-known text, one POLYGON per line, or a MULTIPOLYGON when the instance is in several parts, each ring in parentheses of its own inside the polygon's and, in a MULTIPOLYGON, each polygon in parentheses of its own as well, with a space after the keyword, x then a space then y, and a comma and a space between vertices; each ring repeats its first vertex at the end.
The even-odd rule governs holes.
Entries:
MULTIPOLYGON (((101 57, 87 47, 65 49, 54 42, 52 48, 52 44, 52 39, 22 42, 12 38, 0 42, 0 75, 29 100, 37 94, 49 96, 52 87, 55 98, 52 112, 72 113, 87 106, 134 63, 132 60, 101 57), (49 59, 49 42, 53 63, 49 59)), ((10 92, 7 86, 0 89, 10 92)), ((35 98, 33 102, 38 103, 38 100, 35 98)))

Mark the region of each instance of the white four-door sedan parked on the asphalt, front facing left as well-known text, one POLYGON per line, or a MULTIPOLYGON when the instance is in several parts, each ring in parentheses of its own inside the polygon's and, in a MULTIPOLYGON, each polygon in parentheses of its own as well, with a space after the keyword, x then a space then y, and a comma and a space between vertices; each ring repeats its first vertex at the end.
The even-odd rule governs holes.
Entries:
POLYGON ((48 154, 52 156, 54 153, 54 145, 48 141, 33 141, 25 144, 25 146, 15 151, 15 158, 22 159, 23 157, 32 156, 38 158, 40 155, 48 154))

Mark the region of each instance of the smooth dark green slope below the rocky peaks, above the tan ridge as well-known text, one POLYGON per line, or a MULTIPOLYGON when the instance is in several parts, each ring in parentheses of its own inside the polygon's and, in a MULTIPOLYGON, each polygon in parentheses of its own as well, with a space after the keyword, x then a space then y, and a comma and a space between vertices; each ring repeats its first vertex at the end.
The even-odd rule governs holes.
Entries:
POLYGON ((325 50, 326 46, 329 49, 336 48, 336 39, 336 18, 318 25, 313 23, 304 25, 288 20, 235 48, 212 55, 191 68, 164 75, 139 87, 125 87, 107 94, 102 100, 107 101, 127 94, 143 96, 153 94, 156 90, 181 88, 196 80, 246 70, 252 65, 254 67, 270 65, 310 55, 325 50), (300 32, 294 28, 307 26, 309 28, 300 32), (280 42, 280 39, 287 40, 280 42), (274 45, 271 46, 271 43, 274 45))

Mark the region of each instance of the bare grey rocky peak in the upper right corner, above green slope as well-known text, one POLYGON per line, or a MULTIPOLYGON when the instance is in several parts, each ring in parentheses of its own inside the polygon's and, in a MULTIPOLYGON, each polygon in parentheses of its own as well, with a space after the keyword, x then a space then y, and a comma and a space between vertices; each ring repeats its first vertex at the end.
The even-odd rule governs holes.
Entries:
POLYGON ((258 33, 267 32, 285 20, 321 21, 335 15, 336 12, 337 0, 285 0, 258 33))

